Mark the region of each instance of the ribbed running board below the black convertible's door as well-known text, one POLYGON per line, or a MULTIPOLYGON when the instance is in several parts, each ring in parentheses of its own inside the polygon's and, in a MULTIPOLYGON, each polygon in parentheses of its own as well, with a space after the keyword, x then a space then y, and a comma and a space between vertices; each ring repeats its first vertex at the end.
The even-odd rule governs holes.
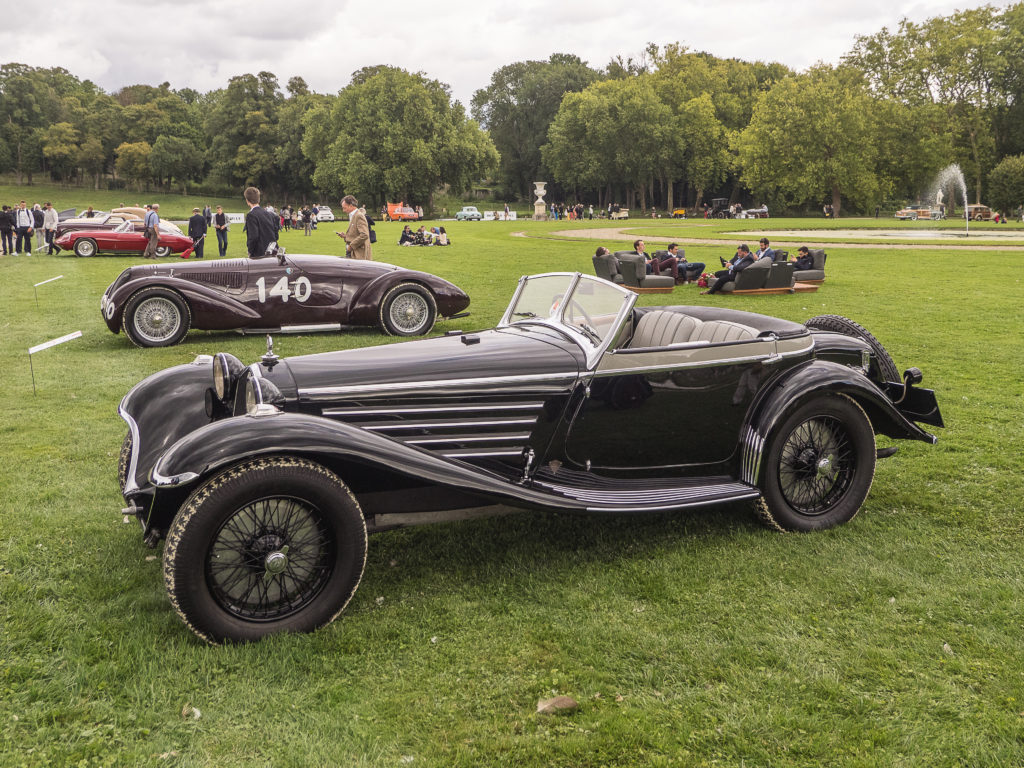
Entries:
POLYGON ((534 487, 583 504, 588 512, 662 512, 761 496, 754 485, 727 475, 634 479, 542 471, 534 487))

